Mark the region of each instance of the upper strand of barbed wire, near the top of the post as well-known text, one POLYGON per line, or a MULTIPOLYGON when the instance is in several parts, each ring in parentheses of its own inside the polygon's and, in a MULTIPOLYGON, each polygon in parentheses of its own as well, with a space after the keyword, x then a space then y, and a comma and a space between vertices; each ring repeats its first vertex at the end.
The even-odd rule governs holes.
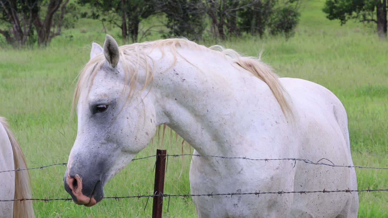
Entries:
MULTIPOLYGON (((156 157, 156 156, 159 156, 159 155, 151 155, 151 156, 147 156, 147 157, 135 158, 135 159, 132 159, 132 161, 141 160, 141 159, 147 159, 147 158, 156 157)), ((180 157, 180 156, 216 157, 216 158, 222 158, 222 159, 245 159, 245 160, 249 160, 249 161, 282 161, 282 160, 288 160, 288 161, 294 161, 294 166, 293 167, 296 166, 296 161, 301 161, 301 162, 304 162, 304 163, 307 163, 307 164, 326 165, 326 166, 332 166, 332 167, 348 167, 348 168, 360 168, 360 169, 366 168, 366 169, 388 170, 388 168, 371 167, 371 166, 335 165, 332 161, 330 161, 327 158, 321 158, 319 161, 327 160, 327 161, 329 161, 332 164, 327 164, 327 163, 322 163, 322 162, 319 163, 319 161, 313 162, 313 161, 310 161, 308 159, 302 159, 302 158, 276 158, 276 159, 265 158, 265 159, 254 159, 254 158, 248 158, 248 157, 225 157, 225 156, 202 155, 202 154, 166 154, 165 156, 166 157, 180 157)), ((168 159, 167 159, 167 161, 168 161, 168 159)), ((38 166, 38 167, 26 168, 26 169, 5 170, 5 171, 0 171, 0 173, 12 172, 12 171, 22 171, 22 170, 42 169, 42 168, 49 167, 49 166, 66 165, 66 164, 67 163, 56 163, 56 164, 50 164, 50 165, 46 165, 46 166, 38 166)))

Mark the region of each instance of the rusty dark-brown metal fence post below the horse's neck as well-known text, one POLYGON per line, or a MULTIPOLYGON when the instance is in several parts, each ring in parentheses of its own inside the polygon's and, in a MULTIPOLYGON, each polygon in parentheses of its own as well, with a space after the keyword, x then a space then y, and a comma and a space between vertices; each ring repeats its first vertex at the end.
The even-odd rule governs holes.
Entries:
MULTIPOLYGON (((163 194, 165 187, 166 150, 156 150, 154 194, 163 194)), ((161 218, 163 209, 163 196, 154 197, 152 218, 161 218)))

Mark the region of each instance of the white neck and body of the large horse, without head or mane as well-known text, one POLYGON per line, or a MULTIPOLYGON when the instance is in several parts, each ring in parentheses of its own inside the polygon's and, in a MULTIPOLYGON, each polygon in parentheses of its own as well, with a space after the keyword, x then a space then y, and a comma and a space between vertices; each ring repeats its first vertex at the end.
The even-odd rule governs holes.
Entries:
MULTIPOLYGON (((157 53, 150 55, 158 59, 157 53)), ((180 54, 188 62, 201 63, 200 70, 187 69, 186 61, 178 61, 166 73, 155 74, 153 88, 160 111, 167 115, 161 120, 194 147, 194 154, 312 161, 326 157, 338 165, 353 165, 345 109, 326 88, 281 78, 294 112, 294 120, 288 120, 262 80, 217 57, 185 50, 180 54)), ((191 193, 357 188, 354 169, 293 164, 193 157, 191 193)), ((358 206, 357 195, 344 193, 193 197, 193 201, 199 217, 336 217, 341 212, 355 217, 358 206)))

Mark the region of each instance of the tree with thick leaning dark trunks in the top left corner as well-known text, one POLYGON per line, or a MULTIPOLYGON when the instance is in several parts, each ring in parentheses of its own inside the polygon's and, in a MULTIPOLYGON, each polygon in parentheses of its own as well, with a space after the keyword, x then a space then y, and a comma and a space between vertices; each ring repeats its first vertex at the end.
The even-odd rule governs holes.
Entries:
POLYGON ((36 38, 39 46, 47 45, 61 33, 68 3, 69 0, 0 0, 0 24, 5 26, 0 33, 16 47, 32 45, 36 38), (56 32, 52 31, 55 14, 56 32))

